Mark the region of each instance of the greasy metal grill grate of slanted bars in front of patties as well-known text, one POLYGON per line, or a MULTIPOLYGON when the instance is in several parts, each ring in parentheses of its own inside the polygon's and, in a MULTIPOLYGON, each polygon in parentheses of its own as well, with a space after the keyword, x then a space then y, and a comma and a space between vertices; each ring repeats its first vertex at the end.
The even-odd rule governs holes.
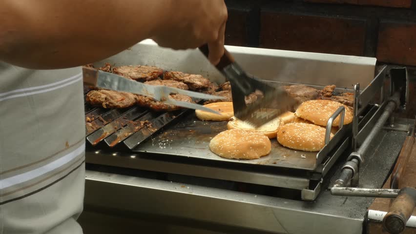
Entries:
POLYGON ((134 149, 188 111, 154 112, 138 106, 105 109, 88 103, 85 103, 84 110, 86 139, 91 146, 118 146, 128 150, 134 149))

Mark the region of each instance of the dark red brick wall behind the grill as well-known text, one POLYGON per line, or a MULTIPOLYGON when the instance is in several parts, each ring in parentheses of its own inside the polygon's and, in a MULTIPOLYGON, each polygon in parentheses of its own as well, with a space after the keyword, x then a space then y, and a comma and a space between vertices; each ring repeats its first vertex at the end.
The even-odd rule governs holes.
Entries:
MULTIPOLYGON (((416 0, 226 0, 226 44, 406 65, 416 103, 416 0)), ((406 117, 414 118, 416 104, 406 117)))

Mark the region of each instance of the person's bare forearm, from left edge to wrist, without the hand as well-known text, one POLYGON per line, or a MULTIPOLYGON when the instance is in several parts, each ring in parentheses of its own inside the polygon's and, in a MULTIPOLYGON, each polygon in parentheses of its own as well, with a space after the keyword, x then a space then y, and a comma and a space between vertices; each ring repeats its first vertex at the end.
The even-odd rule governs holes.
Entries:
MULTIPOLYGON (((171 0, 3 0, 0 60, 66 68, 112 56, 166 26, 171 0)), ((170 19, 172 21, 173 19, 170 19)))

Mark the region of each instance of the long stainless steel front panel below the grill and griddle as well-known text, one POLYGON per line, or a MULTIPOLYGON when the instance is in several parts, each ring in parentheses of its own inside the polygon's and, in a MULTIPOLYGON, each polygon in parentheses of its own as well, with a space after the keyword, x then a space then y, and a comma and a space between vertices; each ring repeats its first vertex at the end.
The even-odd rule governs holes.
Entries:
MULTIPOLYGON (((94 171, 86 172, 85 206, 125 213, 142 213, 184 223, 197 220, 215 225, 282 234, 358 234, 366 199, 331 197, 303 202, 251 195, 94 171), (327 202, 325 202, 327 200, 327 202), (180 221, 178 221, 180 222, 180 221)), ((220 231, 220 230, 212 230, 220 231)))

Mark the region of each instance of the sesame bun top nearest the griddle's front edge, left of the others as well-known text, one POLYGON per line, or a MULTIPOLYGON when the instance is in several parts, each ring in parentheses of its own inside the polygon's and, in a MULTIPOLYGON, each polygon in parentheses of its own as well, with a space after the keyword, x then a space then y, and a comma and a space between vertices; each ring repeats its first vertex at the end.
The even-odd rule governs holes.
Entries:
POLYGON ((225 158, 256 159, 270 154, 271 142, 261 133, 231 129, 213 137, 209 149, 225 158))

